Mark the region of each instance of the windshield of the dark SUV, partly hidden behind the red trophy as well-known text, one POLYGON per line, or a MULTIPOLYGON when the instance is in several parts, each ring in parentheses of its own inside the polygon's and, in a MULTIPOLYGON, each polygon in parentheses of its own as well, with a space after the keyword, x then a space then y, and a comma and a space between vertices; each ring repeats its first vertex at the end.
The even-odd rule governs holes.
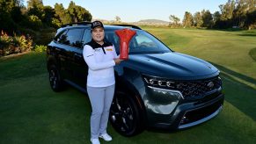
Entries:
MULTIPOLYGON (((120 40, 114 31, 105 31, 106 40, 113 43, 116 52, 119 53, 120 40)), ((135 36, 129 43, 129 54, 168 53, 171 50, 161 41, 148 32, 136 31, 135 36)))

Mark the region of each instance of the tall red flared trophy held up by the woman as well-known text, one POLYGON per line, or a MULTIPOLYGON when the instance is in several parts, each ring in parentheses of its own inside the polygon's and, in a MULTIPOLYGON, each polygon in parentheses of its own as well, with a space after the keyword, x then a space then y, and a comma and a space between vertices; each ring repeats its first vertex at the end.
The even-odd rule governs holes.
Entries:
POLYGON ((129 42, 136 32, 128 28, 125 28, 122 30, 116 30, 115 33, 120 39, 120 59, 128 60, 129 42))

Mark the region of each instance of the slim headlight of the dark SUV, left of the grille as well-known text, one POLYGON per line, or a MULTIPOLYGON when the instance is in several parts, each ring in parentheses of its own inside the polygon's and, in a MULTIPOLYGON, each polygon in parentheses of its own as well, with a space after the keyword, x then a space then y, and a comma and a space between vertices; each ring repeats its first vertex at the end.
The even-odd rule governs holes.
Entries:
POLYGON ((143 75, 143 80, 150 86, 168 88, 168 89, 176 88, 176 83, 174 81, 166 80, 164 78, 143 75))

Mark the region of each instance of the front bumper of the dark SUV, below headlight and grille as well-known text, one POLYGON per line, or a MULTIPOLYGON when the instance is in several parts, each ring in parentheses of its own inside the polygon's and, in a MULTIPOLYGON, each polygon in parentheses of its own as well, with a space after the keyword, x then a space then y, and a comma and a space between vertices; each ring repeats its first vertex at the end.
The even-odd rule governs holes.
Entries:
MULTIPOLYGON (((154 94, 156 93, 154 92, 154 94)), ((159 94, 157 94, 157 97, 163 96, 159 96, 159 94)), ((155 99, 153 100, 156 102, 156 96, 154 97, 155 99)), ((163 102, 163 100, 161 101, 163 102)), ((208 95, 208 97, 205 97, 204 99, 187 101, 182 97, 172 97, 170 101, 168 102, 168 99, 166 98, 165 104, 160 104, 159 102, 158 104, 150 105, 150 99, 148 100, 148 104, 145 104, 148 126, 165 129, 184 129, 199 125, 214 118, 219 112, 221 112, 223 108, 224 95, 219 91, 208 95), (172 101, 172 103, 169 103, 170 101, 172 101), (170 111, 170 107, 172 107, 172 111, 170 111)))

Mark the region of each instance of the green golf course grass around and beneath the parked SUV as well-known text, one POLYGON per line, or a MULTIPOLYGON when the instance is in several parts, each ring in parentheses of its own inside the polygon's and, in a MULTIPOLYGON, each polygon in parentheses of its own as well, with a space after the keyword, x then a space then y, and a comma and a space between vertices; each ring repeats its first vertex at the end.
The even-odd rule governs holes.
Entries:
MULTIPOLYGON (((173 50, 210 61, 222 71, 225 102, 212 120, 178 131, 144 131, 126 138, 108 131, 102 143, 256 143, 256 31, 145 29, 173 50)), ((91 106, 71 87, 55 93, 49 87, 46 55, 0 58, 0 143, 90 143, 91 106)))

